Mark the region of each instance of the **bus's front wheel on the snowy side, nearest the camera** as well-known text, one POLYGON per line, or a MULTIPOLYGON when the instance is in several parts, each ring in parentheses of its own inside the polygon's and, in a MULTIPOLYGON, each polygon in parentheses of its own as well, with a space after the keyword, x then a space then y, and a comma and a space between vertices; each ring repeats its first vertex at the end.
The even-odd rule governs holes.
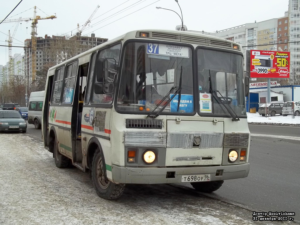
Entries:
POLYGON ((102 154, 98 148, 93 157, 91 172, 96 193, 107 200, 117 199, 122 195, 125 184, 115 184, 107 180, 103 165, 102 154))

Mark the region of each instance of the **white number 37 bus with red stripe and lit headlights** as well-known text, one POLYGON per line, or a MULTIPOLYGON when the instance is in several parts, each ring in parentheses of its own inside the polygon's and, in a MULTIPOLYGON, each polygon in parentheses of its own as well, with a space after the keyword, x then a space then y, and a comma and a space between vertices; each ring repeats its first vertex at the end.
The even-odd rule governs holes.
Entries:
POLYGON ((249 173, 248 85, 235 42, 128 32, 49 69, 44 146, 58 168, 89 172, 104 199, 125 184, 213 192, 249 173))

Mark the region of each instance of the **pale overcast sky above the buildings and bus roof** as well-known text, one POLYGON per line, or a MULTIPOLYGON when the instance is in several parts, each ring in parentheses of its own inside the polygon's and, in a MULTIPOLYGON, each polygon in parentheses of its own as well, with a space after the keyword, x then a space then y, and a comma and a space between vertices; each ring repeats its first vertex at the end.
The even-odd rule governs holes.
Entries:
MULTIPOLYGON (((5 1, 0 7, 0 22, 10 13, 20 0, 5 1)), ((264 21, 284 16, 288 10, 288 0, 178 0, 182 9, 183 23, 188 30, 214 32, 244 23, 264 21)), ((7 19, 32 18, 34 6, 37 15, 46 17, 55 15, 56 19, 38 20, 38 37, 50 35, 76 34, 77 23, 80 28, 97 10, 89 26, 82 31, 83 36, 95 33, 96 37, 112 39, 136 29, 174 30, 181 20, 176 13, 156 9, 156 6, 176 11, 181 15, 175 0, 23 0, 7 19), (71 4, 70 4, 71 3, 71 4), (124 17, 124 18, 122 18, 124 17)), ((6 19, 6 20, 7 20, 6 19)), ((5 21, 5 20, 4 20, 5 21)), ((0 24, 0 45, 7 45, 8 30, 13 34, 16 23, 0 24)), ((24 46, 24 40, 31 38, 31 21, 19 24, 13 39, 13 46, 24 46)), ((24 54, 23 48, 13 48, 13 55, 24 54)), ((0 46, 0 65, 8 61, 8 48, 0 46)))

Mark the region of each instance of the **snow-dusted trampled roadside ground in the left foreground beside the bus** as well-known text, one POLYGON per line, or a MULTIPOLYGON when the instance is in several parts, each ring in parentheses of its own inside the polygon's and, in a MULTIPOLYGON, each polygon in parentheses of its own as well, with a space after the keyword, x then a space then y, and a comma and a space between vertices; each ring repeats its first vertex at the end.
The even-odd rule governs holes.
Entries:
MULTIPOLYGON (((58 169, 43 144, 0 134, 0 224, 282 224, 177 185, 128 185, 115 201, 99 198, 88 174, 58 169)), ((284 224, 293 224, 290 221, 284 224)))

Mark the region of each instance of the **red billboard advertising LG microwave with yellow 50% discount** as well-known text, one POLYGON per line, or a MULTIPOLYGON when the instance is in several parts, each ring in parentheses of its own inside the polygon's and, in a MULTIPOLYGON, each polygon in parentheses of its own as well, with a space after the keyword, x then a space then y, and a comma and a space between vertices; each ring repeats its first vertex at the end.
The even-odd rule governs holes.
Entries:
POLYGON ((251 50, 250 77, 289 78, 289 52, 251 50))

